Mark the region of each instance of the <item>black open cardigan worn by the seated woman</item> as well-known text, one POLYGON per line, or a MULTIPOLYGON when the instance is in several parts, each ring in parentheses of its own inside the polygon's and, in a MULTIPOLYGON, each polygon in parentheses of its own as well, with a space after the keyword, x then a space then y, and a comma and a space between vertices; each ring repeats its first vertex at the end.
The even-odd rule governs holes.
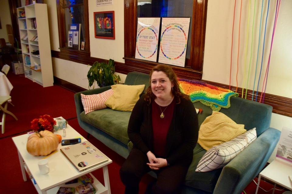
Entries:
MULTIPOLYGON (((134 147, 145 154, 153 152, 153 129, 151 104, 142 96, 130 116, 128 136, 134 147)), ((193 149, 198 141, 198 116, 190 100, 181 100, 176 104, 171 125, 166 137, 166 160, 172 165, 182 163, 189 165, 193 159, 193 149)))

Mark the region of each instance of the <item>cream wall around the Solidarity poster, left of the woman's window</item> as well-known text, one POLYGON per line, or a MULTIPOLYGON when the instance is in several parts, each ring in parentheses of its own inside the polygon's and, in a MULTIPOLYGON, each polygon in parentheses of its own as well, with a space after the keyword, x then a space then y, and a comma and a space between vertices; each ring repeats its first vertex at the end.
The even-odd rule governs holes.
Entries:
MULTIPOLYGON (((89 36, 90 52, 92 57, 101 59, 113 59, 116 62, 124 62, 124 10, 123 1, 114 1, 114 5, 96 6, 96 1, 89 2, 89 36), (115 12, 115 39, 94 37, 93 12, 115 12)), ((45 1, 48 5, 51 49, 60 51, 57 25, 56 1, 45 1)), ((88 89, 87 72, 90 67, 84 64, 74 63, 63 59, 53 58, 54 76, 88 89), (68 74, 67 72, 70 72, 68 74)), ((119 74, 122 82, 125 75, 119 74)), ((95 87, 98 87, 97 85, 95 87)))

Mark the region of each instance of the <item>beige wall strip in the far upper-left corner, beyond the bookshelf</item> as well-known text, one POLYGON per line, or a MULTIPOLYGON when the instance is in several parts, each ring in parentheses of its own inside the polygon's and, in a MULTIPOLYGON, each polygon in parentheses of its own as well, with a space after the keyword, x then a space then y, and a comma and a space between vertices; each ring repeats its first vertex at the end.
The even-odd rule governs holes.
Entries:
POLYGON ((12 25, 11 18, 10 18, 10 8, 9 8, 8 0, 1 1, 0 19, 1 19, 1 26, 2 26, 2 29, 0 29, 0 38, 4 38, 5 42, 8 42, 6 24, 12 25))

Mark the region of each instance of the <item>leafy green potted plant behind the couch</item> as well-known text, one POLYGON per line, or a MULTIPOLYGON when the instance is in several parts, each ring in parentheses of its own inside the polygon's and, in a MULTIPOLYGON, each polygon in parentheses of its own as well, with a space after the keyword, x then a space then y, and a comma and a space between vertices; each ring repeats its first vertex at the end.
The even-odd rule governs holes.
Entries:
POLYGON ((115 64, 113 59, 109 59, 107 64, 105 62, 94 62, 87 73, 89 88, 94 84, 94 82, 97 82, 99 87, 120 83, 120 76, 115 75, 114 72, 115 64))

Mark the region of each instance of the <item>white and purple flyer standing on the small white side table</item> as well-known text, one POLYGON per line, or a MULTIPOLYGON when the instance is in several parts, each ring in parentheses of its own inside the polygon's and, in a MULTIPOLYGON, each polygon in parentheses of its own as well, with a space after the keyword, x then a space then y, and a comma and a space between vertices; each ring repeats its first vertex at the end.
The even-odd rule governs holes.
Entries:
POLYGON ((292 129, 283 127, 276 157, 292 163, 292 129))

